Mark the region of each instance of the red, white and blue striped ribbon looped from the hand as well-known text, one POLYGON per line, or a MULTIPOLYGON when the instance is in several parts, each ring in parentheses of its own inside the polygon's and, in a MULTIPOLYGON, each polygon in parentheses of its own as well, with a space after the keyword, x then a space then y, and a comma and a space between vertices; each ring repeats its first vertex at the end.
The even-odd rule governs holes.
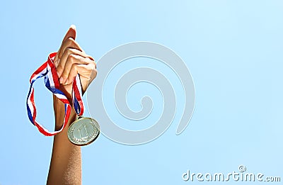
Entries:
MULTIPOLYGON (((53 60, 56 55, 56 52, 51 53, 48 56, 47 62, 45 62, 42 66, 40 66, 30 77, 30 91, 28 92, 28 99, 27 99, 27 109, 28 109, 28 118, 30 119, 31 123, 35 125, 40 133, 51 136, 60 133, 67 125, 69 116, 71 113, 71 104, 69 103, 65 94, 59 90, 59 79, 56 67, 54 66, 53 60), (45 77, 45 86, 49 89, 54 96, 62 101, 65 104, 65 116, 64 116, 64 123, 60 130, 56 130, 54 132, 50 132, 46 128, 44 128, 40 123, 36 121, 36 107, 35 107, 35 99, 34 99, 34 92, 33 83, 41 78, 45 77)), ((79 74, 76 75, 73 82, 72 88, 72 100, 74 105, 74 110, 78 116, 83 115, 83 99, 82 99, 82 92, 81 92, 81 80, 79 74)))

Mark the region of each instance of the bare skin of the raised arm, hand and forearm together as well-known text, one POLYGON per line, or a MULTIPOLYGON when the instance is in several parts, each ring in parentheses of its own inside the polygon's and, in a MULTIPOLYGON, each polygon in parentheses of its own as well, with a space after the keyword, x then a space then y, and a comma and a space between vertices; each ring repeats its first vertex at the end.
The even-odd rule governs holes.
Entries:
MULTIPOLYGON (((54 65, 60 82, 60 90, 71 103, 71 89, 74 77, 80 74, 83 93, 96 77, 96 62, 76 43, 76 27, 71 26, 59 48, 54 65)), ((55 130, 62 127, 64 120, 64 103, 53 96, 55 130)), ((67 127, 54 136, 50 170, 47 184, 81 184, 81 147, 73 145, 67 137, 69 125, 76 120, 72 106, 67 127)))

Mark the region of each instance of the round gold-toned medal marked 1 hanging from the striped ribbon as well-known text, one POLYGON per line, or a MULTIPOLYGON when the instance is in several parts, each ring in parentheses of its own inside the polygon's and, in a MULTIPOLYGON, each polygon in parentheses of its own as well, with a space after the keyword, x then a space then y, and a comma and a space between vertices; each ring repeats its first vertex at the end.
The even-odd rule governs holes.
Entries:
POLYGON ((99 133, 100 127, 95 119, 79 116, 69 126, 68 138, 74 145, 83 146, 96 140, 99 133))

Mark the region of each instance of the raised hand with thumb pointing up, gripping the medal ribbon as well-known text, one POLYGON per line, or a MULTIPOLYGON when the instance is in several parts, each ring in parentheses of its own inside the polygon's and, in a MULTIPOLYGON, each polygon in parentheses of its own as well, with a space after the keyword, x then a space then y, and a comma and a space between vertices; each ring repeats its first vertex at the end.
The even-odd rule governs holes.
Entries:
POLYGON ((60 90, 64 92, 69 100, 71 99, 71 89, 76 74, 80 74, 83 93, 97 74, 96 62, 94 62, 93 57, 86 55, 86 52, 76 43, 75 39, 76 27, 71 26, 54 58, 60 90))

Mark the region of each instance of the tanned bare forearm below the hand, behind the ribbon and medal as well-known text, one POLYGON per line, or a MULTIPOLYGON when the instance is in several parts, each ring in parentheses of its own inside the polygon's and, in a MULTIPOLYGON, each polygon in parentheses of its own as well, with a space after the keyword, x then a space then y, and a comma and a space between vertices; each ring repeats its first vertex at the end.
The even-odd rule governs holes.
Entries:
MULTIPOLYGON (((55 129, 59 129, 64 120, 64 103, 56 97, 53 99, 55 129)), ((54 136, 47 184, 81 184, 81 147, 71 144, 67 137, 69 125, 75 119, 76 113, 72 108, 66 128, 54 136)))

